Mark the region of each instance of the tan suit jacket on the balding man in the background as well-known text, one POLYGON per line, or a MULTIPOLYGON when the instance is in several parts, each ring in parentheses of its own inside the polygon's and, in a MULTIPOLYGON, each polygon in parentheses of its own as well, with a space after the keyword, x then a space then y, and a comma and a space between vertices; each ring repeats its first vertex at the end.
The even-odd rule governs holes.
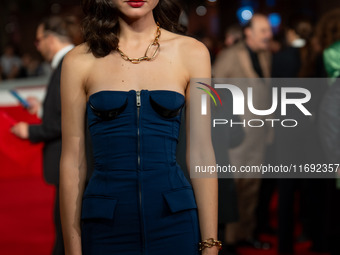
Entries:
MULTIPOLYGON (((267 51, 258 53, 263 77, 269 78, 271 73, 271 54, 267 51)), ((217 56, 212 70, 214 78, 259 78, 253 68, 251 58, 245 42, 241 41, 234 46, 222 50, 217 56)), ((253 105, 256 109, 269 109, 271 106, 271 85, 261 79, 235 80, 243 94, 248 95, 247 89, 253 88, 253 105)), ((273 128, 270 123, 261 128, 249 127, 250 119, 272 119, 270 116, 258 116, 248 109, 247 100, 244 105, 244 115, 240 115, 241 121, 245 121, 245 139, 241 145, 229 151, 230 162, 236 167, 242 165, 260 165, 264 162, 267 144, 273 141, 273 128)))

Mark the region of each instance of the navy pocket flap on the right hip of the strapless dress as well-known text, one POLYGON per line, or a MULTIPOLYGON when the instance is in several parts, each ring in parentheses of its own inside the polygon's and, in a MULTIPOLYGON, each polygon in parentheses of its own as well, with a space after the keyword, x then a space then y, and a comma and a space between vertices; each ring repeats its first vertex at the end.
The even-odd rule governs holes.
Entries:
POLYGON ((165 191, 163 197, 172 213, 197 208, 194 191, 191 187, 165 191))

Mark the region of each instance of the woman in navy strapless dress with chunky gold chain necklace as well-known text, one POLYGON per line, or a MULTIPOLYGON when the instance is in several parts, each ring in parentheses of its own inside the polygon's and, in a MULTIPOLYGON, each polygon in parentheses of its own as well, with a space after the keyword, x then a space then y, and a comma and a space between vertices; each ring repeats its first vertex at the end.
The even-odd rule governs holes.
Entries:
POLYGON ((190 79, 211 76, 207 48, 177 33, 180 9, 171 0, 82 7, 85 43, 67 54, 61 76, 66 254, 218 254, 217 179, 190 183, 175 157, 185 109, 190 162, 215 163, 210 122, 189 129, 188 116, 190 105, 200 109, 200 100, 190 103, 200 96, 190 79), (87 186, 85 118, 95 159, 87 186))

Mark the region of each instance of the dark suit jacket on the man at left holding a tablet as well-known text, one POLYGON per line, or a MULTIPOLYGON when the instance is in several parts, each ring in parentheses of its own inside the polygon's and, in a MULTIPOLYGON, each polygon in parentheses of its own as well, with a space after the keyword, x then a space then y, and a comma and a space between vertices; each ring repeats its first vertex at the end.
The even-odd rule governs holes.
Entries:
MULTIPOLYGON (((29 126, 29 140, 32 143, 43 142, 43 174, 49 184, 59 185, 59 162, 61 156, 61 97, 60 76, 63 59, 52 73, 43 102, 42 123, 29 126)), ((85 122, 85 144, 87 154, 87 178, 93 171, 91 137, 85 122)))

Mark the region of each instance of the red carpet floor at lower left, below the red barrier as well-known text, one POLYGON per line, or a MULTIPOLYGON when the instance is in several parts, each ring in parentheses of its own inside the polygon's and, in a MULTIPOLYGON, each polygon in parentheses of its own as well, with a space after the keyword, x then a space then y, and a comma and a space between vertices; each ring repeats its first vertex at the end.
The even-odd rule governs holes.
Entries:
POLYGON ((54 186, 42 177, 0 180, 0 194, 0 254, 51 254, 54 186))

